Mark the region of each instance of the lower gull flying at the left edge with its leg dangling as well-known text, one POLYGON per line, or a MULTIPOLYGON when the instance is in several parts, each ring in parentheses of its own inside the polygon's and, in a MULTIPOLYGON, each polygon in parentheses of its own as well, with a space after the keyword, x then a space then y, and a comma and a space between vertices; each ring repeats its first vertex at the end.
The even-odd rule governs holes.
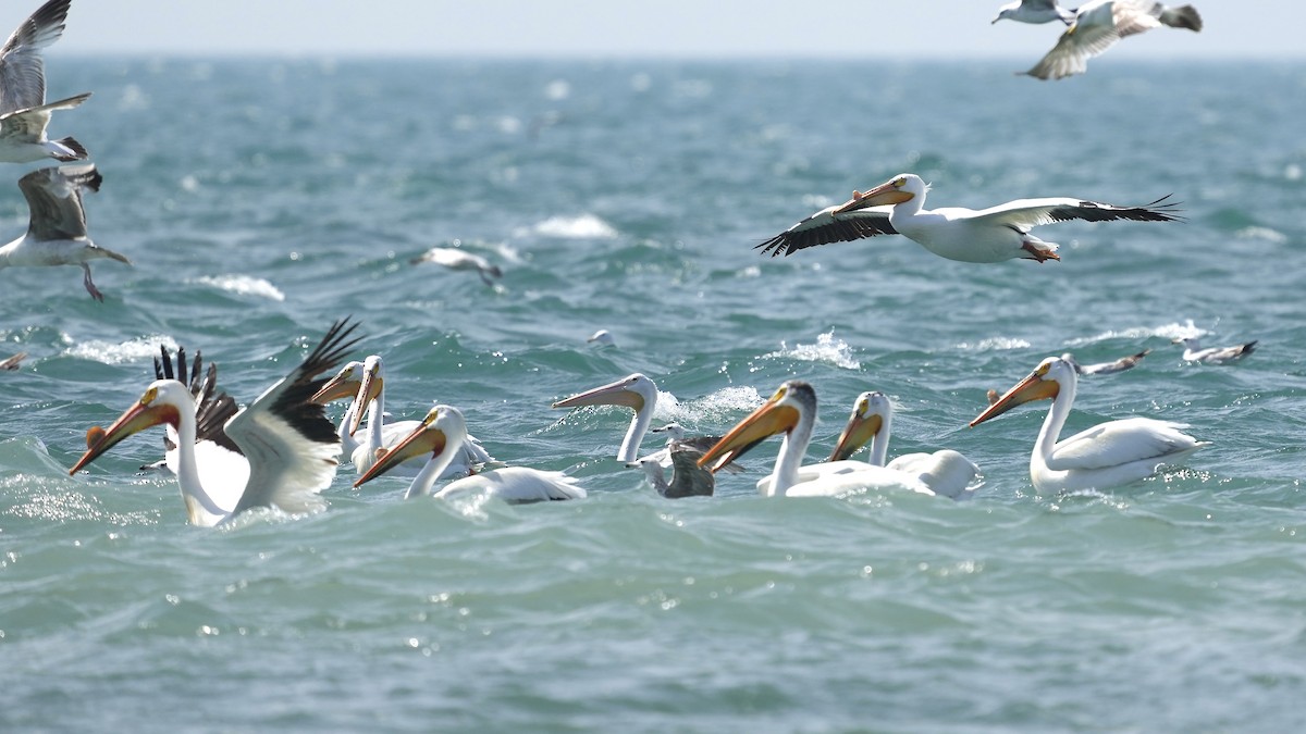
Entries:
POLYGON ((110 257, 132 264, 127 257, 99 247, 86 235, 86 212, 81 189, 99 191, 101 175, 94 163, 39 168, 18 179, 27 197, 31 221, 27 234, 0 247, 0 269, 10 266, 81 265, 82 285, 95 300, 104 300, 90 279, 90 261, 110 257))

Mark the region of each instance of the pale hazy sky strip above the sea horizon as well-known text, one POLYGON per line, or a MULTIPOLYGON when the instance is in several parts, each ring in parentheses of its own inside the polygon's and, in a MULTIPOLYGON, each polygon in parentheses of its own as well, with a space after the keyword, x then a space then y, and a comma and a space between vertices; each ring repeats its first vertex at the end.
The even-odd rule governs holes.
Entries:
MULTIPOLYGON (((13 29, 39 0, 4 4, 13 29)), ((1202 34, 1128 39, 1134 57, 1306 55, 1298 0, 1196 0, 1202 34)), ((1037 57, 1058 27, 998 0, 74 0, 51 54, 1037 57)), ((8 30, 0 30, 8 33, 8 30)))

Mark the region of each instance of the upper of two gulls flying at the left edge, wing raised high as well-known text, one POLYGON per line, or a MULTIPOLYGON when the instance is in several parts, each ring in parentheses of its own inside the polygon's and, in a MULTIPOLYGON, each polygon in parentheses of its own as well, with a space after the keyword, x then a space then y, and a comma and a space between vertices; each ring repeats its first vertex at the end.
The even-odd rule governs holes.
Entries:
POLYGON ((46 104, 46 65, 40 50, 64 33, 69 0, 50 0, 24 21, 0 48, 0 161, 30 163, 42 158, 80 161, 86 149, 71 137, 47 140, 55 110, 71 110, 90 93, 46 104))

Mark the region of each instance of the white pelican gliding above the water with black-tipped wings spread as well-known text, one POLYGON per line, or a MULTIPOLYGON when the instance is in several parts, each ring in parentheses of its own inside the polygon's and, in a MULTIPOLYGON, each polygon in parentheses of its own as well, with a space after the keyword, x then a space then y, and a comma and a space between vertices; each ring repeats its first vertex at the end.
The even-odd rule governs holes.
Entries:
POLYGON ((1173 222, 1168 196, 1145 206, 1115 206, 1081 199, 1021 199, 978 212, 952 206, 925 210, 930 187, 916 174, 899 174, 849 201, 820 212, 757 246, 772 256, 807 247, 848 242, 882 234, 901 234, 930 252, 963 263, 1000 263, 1025 259, 1060 260, 1057 246, 1030 234, 1038 225, 1084 219, 1109 222, 1173 222), (892 208, 888 208, 892 205, 892 208))

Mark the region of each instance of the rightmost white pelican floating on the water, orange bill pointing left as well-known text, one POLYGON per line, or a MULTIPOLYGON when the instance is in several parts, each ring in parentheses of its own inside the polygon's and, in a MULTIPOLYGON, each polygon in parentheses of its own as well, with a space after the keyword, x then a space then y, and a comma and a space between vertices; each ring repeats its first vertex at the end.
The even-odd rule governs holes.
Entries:
POLYGON ((1032 400, 1053 398, 1029 457, 1029 478, 1040 491, 1109 490, 1145 479, 1209 445, 1182 432, 1186 424, 1152 418, 1109 421, 1057 440, 1075 402, 1075 370, 1058 357, 1043 359, 1028 377, 976 417, 970 426, 1032 400))

